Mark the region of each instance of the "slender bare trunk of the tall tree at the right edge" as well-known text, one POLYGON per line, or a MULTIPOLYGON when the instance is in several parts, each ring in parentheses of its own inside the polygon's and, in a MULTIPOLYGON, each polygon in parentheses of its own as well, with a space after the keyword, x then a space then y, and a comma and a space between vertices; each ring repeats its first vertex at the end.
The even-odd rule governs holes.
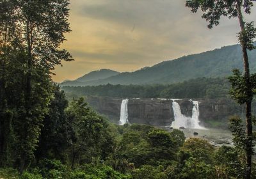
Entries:
MULTIPOLYGON (((241 27, 241 31, 245 31, 245 23, 243 20, 243 14, 241 11, 241 1, 237 0, 237 13, 238 13, 238 19, 239 24, 241 27)), ((247 43, 248 42, 241 42, 242 51, 243 51, 243 61, 244 61, 244 79, 246 82, 246 146, 245 146, 245 152, 246 152, 246 171, 245 171, 245 177, 246 179, 251 178, 252 173, 252 84, 250 81, 250 66, 249 66, 249 59, 247 54, 247 43)))

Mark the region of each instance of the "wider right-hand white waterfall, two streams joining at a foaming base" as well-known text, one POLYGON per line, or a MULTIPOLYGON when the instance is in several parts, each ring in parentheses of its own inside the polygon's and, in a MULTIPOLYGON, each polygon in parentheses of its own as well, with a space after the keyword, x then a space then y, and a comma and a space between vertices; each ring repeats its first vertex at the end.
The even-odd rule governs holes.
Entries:
POLYGON ((199 102, 193 101, 193 100, 191 100, 191 102, 193 102, 192 117, 188 117, 181 113, 179 103, 177 103, 177 102, 175 102, 175 100, 173 100, 172 109, 173 109, 173 113, 174 113, 174 121, 172 122, 171 127, 173 127, 173 128, 185 127, 185 128, 205 129, 204 127, 201 127, 199 125, 199 123, 200 123, 200 121, 199 121, 199 102))

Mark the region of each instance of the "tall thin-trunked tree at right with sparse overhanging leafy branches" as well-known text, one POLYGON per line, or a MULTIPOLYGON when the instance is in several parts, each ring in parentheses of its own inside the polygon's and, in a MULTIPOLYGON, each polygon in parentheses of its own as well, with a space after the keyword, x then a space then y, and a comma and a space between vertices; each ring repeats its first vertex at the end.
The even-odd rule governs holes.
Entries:
POLYGON ((255 0, 187 0, 186 6, 195 13, 200 8, 203 12, 202 18, 209 22, 211 29, 214 25, 220 23, 221 16, 229 18, 237 17, 241 31, 238 34, 238 40, 243 51, 244 74, 241 75, 237 70, 234 71, 234 77, 230 78, 232 84, 231 96, 239 104, 246 105, 246 178, 251 178, 252 173, 252 152, 253 152, 253 132, 252 132, 252 99, 253 89, 255 88, 255 75, 250 75, 250 66, 247 50, 255 49, 253 38, 256 37, 256 29, 253 22, 246 23, 243 19, 244 13, 250 14, 253 1, 255 0))

